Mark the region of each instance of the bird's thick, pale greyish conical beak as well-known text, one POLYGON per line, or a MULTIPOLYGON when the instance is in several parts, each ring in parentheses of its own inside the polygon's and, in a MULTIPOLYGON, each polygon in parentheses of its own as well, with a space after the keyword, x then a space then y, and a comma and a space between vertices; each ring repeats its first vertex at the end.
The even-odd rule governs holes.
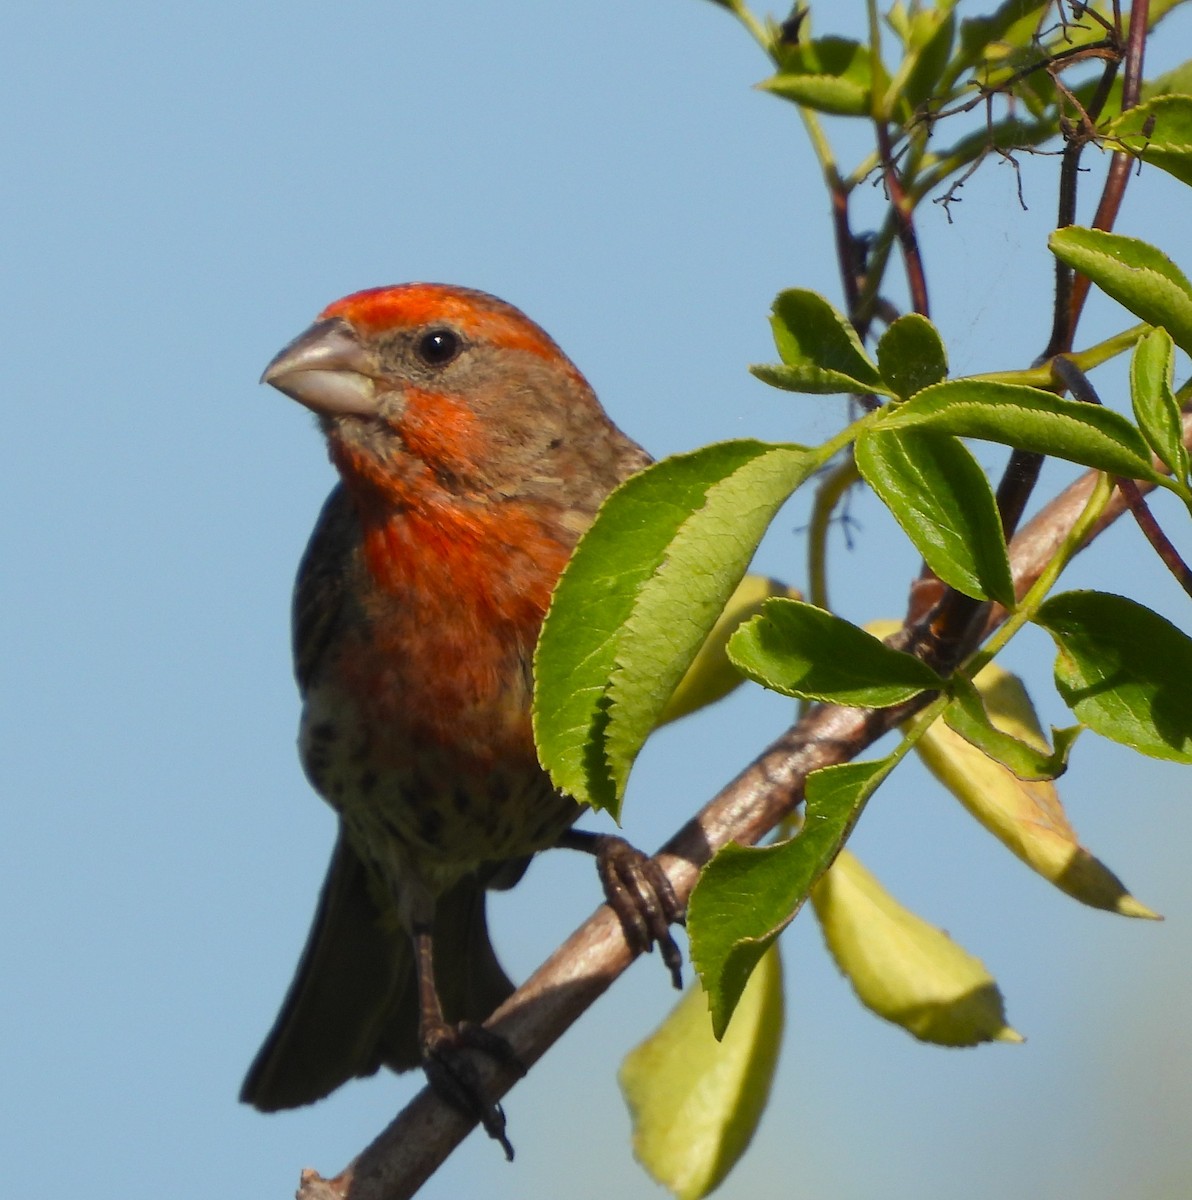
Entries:
POLYGON ((265 367, 262 383, 323 416, 375 416, 372 361, 355 330, 339 317, 316 322, 265 367))

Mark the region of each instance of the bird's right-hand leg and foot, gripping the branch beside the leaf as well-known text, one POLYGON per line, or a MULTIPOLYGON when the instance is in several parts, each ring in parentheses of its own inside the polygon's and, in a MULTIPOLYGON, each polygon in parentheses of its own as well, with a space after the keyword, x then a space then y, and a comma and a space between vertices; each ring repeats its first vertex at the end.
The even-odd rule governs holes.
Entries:
POLYGON ((682 924, 684 912, 666 872, 649 856, 613 834, 568 829, 557 845, 595 856, 605 900, 619 919, 625 941, 639 953, 653 949, 657 943, 671 982, 682 988, 683 953, 670 926, 682 924))

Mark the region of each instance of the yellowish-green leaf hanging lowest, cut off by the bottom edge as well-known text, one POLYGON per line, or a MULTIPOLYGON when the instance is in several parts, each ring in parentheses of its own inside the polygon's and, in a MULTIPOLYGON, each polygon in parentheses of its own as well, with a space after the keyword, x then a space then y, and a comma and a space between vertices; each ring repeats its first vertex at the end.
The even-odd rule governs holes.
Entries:
POLYGON ((729 1174, 766 1108, 784 1022, 778 947, 762 955, 718 1042, 700 988, 621 1066, 637 1162, 678 1200, 700 1200, 729 1174))

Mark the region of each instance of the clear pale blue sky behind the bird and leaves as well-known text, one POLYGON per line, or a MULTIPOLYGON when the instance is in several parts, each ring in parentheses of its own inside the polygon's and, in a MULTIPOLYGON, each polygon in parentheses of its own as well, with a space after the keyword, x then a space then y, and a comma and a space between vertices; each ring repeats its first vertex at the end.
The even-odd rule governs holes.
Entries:
MULTIPOLYGON (((859 0, 823 10, 859 26, 859 0)), ((1188 34, 1173 20, 1149 73, 1188 34)), ((523 307, 655 454, 822 440, 839 401, 745 368, 773 358, 781 287, 838 296, 826 199, 793 109, 751 90, 760 53, 701 0, 50 0, 11 13, 0 54, 6 1186, 286 1196, 301 1166, 342 1166, 417 1080, 271 1117, 235 1102, 333 838, 294 754, 287 628, 331 469, 309 415, 257 385, 262 367, 339 295, 449 281, 523 307)), ((1054 161, 1023 166, 1025 214, 994 164, 954 224, 923 214, 957 372, 1022 365, 1046 341, 1054 161)), ((1120 228, 1192 270, 1187 203, 1148 172, 1120 228)), ((1086 335, 1121 324, 1095 302, 1086 335)), ((873 503, 852 512, 834 598, 855 619, 897 614, 914 557, 873 503)), ((795 583, 804 514, 784 512, 759 559, 795 583)), ((1076 582, 1186 624, 1133 530, 1086 558, 1076 582)), ((1061 724, 1049 660, 1042 638, 1013 648, 1061 724)), ((664 731, 631 785, 629 836, 664 840, 789 716, 748 689, 664 731)), ((855 848, 984 959, 1029 1040, 914 1043, 855 1003, 801 918, 773 1104, 720 1194, 1190 1190, 1186 775, 1086 737, 1064 781, 1089 846, 1162 925, 1067 900, 924 774, 900 776, 855 848)), ((537 863, 495 905, 510 971, 597 895, 574 856, 537 863)), ((657 962, 636 965, 510 1096, 516 1164, 474 1136, 424 1194, 657 1195, 613 1075, 671 1002, 657 962)))

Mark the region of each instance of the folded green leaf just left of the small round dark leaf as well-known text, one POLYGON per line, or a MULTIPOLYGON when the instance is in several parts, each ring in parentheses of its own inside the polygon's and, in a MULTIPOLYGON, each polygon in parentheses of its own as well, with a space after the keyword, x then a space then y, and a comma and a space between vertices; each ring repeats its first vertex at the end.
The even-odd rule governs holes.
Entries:
POLYGON ((823 296, 802 288, 780 293, 769 324, 784 366, 755 366, 757 378, 789 391, 883 390, 857 331, 823 296))

